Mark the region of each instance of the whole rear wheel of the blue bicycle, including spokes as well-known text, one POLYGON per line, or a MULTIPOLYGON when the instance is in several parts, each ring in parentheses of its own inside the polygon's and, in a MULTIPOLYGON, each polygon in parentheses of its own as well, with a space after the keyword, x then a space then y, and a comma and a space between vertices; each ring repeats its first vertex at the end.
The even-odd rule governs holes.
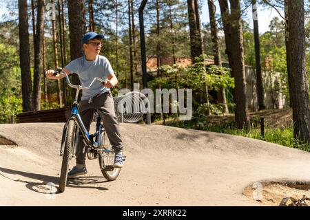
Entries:
POLYGON ((101 133, 100 136, 101 144, 99 146, 99 166, 101 169, 101 173, 103 177, 107 179, 107 181, 115 180, 119 173, 121 172, 121 168, 114 168, 114 150, 111 147, 110 142, 107 139, 105 131, 101 133))

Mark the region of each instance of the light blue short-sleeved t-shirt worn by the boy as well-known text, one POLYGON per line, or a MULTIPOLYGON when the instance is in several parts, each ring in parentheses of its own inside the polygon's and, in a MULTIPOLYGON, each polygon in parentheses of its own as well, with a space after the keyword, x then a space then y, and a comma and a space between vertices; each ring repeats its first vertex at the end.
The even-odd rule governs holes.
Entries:
MULTIPOLYGON (((97 55, 94 61, 87 61, 83 55, 71 61, 65 68, 68 69, 71 74, 78 74, 81 85, 86 87, 92 83, 95 77, 105 80, 107 75, 114 73, 110 62, 105 56, 101 55, 97 55)), ((90 99, 106 91, 110 91, 110 89, 104 88, 102 83, 96 80, 90 89, 83 90, 82 100, 90 99)))

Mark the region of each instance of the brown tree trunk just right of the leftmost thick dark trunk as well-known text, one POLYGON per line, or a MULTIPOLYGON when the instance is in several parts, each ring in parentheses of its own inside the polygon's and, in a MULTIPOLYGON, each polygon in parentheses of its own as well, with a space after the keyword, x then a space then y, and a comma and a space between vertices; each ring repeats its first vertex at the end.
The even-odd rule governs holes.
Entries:
POLYGON ((44 0, 37 1, 37 30, 34 44, 34 77, 33 77, 33 103, 34 110, 41 109, 41 76, 43 72, 43 36, 44 36, 44 0))

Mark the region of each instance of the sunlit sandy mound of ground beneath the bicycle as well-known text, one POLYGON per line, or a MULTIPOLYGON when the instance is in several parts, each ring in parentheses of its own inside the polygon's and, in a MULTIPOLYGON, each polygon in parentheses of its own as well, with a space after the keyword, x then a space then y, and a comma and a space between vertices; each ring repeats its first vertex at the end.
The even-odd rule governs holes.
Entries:
POLYGON ((1 206, 262 206, 271 204, 245 195, 245 188, 310 181, 304 151, 220 133, 121 124, 127 158, 118 179, 105 181, 98 160, 87 160, 87 175, 58 193, 62 128, 0 124, 0 136, 17 144, 0 140, 1 206))

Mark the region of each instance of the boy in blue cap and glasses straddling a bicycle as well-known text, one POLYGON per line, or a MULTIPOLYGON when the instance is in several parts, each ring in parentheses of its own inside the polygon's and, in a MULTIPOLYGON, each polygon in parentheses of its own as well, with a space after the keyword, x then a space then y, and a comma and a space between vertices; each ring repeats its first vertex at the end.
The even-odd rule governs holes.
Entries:
MULTIPOLYGON (((83 86, 90 85, 95 77, 106 78, 104 85, 96 80, 90 89, 83 90, 81 102, 79 103, 79 113, 85 124, 85 128, 89 131, 94 109, 99 109, 99 114, 106 128, 107 137, 115 152, 113 166, 115 168, 121 168, 123 167, 123 142, 114 111, 114 100, 110 93, 110 88, 114 87, 118 83, 118 80, 107 58, 99 55, 102 47, 102 39, 102 34, 87 32, 82 39, 84 55, 71 61, 63 68, 63 72, 68 75, 73 73, 78 74, 81 85, 83 86)), ((53 74, 54 70, 52 69, 45 72, 45 75, 51 79, 65 77, 63 74, 57 74, 56 76, 53 76, 53 74)), ((83 138, 80 135, 79 144, 76 148, 76 166, 70 170, 68 178, 87 173, 85 166, 86 152, 82 140, 83 138)))

